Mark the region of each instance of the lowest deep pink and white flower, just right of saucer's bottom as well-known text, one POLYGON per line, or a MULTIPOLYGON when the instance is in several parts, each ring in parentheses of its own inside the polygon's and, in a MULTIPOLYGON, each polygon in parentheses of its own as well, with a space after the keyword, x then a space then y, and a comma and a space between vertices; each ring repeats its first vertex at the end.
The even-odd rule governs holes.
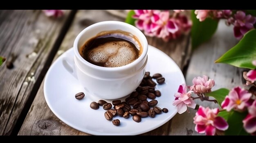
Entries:
POLYGON ((205 133, 206 135, 213 136, 218 130, 227 130, 229 125, 222 117, 217 117, 219 112, 218 108, 210 109, 199 106, 198 112, 195 113, 194 123, 195 131, 198 133, 205 133))

